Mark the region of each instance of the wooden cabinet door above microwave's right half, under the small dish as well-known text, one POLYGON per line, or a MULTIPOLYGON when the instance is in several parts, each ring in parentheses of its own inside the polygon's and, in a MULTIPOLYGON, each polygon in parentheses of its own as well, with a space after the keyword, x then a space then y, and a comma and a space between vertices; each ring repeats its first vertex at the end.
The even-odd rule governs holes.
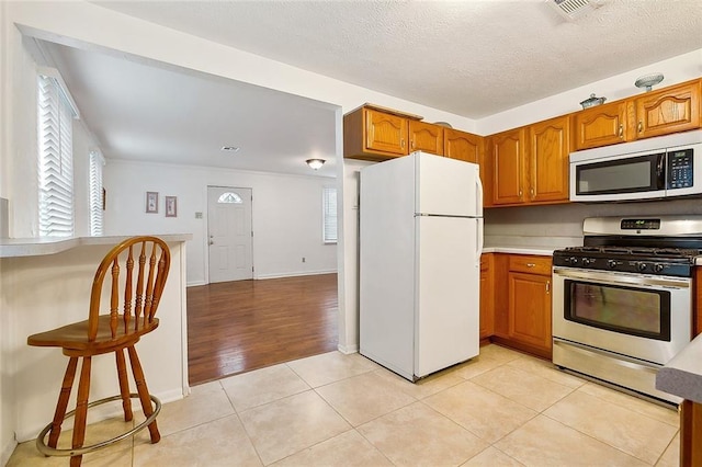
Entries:
POLYGON ((636 138, 687 132, 700 127, 700 81, 646 94, 634 100, 636 138))

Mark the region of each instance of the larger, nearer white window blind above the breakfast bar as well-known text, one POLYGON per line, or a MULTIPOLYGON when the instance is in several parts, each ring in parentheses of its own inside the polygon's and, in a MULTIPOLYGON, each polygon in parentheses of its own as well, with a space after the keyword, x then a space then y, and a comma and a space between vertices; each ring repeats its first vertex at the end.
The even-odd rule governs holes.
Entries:
POLYGON ((38 77, 39 235, 73 235, 72 118, 77 114, 55 77, 38 77))

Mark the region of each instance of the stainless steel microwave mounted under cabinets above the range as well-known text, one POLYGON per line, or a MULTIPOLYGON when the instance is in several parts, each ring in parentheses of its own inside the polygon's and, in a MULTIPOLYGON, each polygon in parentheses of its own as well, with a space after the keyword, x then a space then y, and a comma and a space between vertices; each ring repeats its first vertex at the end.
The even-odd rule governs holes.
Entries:
POLYGON ((702 194, 702 130, 570 153, 570 201, 702 194))

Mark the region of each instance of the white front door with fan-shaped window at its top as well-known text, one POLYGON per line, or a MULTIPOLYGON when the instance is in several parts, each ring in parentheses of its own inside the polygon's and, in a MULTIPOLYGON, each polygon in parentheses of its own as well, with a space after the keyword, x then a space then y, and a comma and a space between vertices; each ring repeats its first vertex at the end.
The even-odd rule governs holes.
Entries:
POLYGON ((210 283, 253 278, 251 189, 207 187, 210 283))

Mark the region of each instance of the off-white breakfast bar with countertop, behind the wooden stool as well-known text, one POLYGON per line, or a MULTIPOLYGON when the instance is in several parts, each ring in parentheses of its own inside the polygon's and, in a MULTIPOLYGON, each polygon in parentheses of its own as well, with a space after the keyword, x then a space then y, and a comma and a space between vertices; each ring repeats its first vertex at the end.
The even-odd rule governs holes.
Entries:
MULTIPOLYGON (((160 326, 137 346, 150 392, 167 402, 181 399, 190 390, 185 243, 192 235, 155 236, 168 243, 171 269, 158 309, 160 326)), ((19 442, 34 438, 52 420, 66 366, 60 352, 27 346, 26 338, 88 319, 98 265, 114 246, 129 237, 0 240, 0 413, 19 442)), ((118 387, 114 355, 94 358, 92 375, 90 400, 114 395, 118 387)), ((70 407, 73 401, 75 395, 70 407)))

